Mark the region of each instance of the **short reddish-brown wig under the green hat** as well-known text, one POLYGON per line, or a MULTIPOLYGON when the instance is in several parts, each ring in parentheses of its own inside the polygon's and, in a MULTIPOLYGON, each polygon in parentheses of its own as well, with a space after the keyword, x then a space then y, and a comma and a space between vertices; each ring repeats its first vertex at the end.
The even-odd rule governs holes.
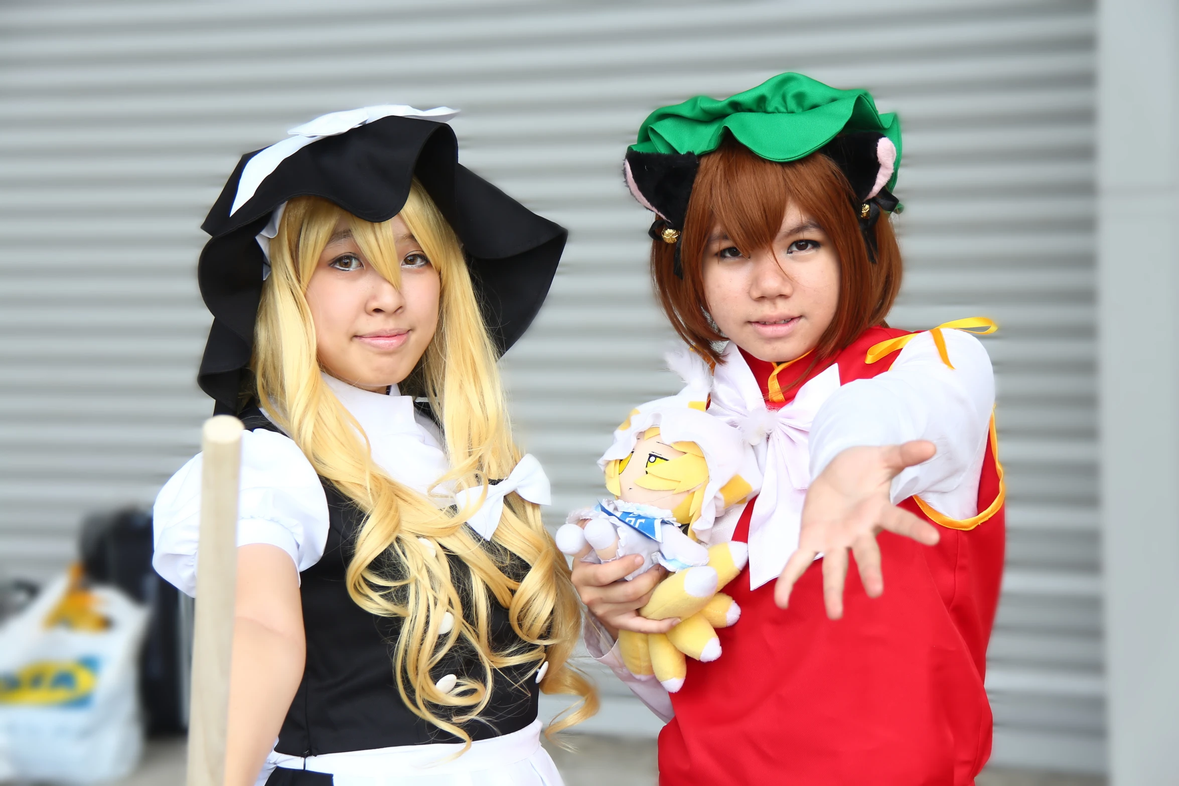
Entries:
MULTIPOLYGON (((839 304, 819 337, 815 362, 848 346, 865 329, 884 324, 901 289, 901 250, 887 214, 876 222, 876 262, 859 232, 855 194, 843 172, 822 153, 797 161, 770 161, 732 138, 700 157, 680 237, 684 277, 674 271, 676 246, 654 240, 651 275, 676 332, 713 365, 725 341, 704 299, 704 251, 719 224, 744 253, 769 247, 789 205, 815 220, 839 259, 839 304)), ((786 359, 786 358, 778 358, 786 359)))

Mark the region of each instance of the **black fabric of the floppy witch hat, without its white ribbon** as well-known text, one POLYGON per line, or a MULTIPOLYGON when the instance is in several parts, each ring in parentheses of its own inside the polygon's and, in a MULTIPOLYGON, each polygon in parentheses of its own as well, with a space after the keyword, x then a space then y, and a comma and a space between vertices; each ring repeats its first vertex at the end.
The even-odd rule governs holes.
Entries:
POLYGON ((322 197, 380 223, 401 211, 416 177, 463 244, 501 354, 540 311, 567 232, 461 166, 447 124, 387 117, 316 140, 284 159, 230 216, 242 171, 257 152, 242 157, 202 225, 212 238, 200 252, 197 279, 213 324, 197 381, 218 412, 236 412, 243 403, 265 263, 256 237, 294 197, 322 197))

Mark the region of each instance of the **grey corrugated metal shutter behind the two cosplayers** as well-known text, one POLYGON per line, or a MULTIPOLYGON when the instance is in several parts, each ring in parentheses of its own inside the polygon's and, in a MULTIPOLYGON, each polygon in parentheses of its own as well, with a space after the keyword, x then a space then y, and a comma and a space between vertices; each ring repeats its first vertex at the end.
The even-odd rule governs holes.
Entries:
POLYGON ((241 152, 365 104, 463 108, 465 163, 571 227, 505 366, 554 521, 590 501, 612 427, 674 387, 624 146, 657 105, 803 71, 902 114, 894 323, 1002 326, 995 761, 1100 770, 1093 34, 1052 0, 7 2, 0 570, 58 569, 83 511, 150 502, 196 450, 204 211, 241 152))

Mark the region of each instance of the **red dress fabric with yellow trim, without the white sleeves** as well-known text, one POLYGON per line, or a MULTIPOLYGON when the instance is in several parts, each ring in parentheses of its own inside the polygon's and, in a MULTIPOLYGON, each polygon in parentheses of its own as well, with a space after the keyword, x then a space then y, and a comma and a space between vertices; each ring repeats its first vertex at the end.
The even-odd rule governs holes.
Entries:
MULTIPOLYGON (((865 354, 902 335, 865 331, 834 361, 841 384, 887 371, 897 352, 872 364, 865 354)), ((746 362, 764 392, 772 364, 746 362)), ((979 484, 979 510, 989 517, 973 529, 943 521, 934 547, 881 533, 884 594, 869 599, 852 564, 842 620, 826 617, 817 562, 785 610, 773 603, 775 582, 750 590, 747 568, 725 587, 742 616, 718 630, 720 659, 689 659, 684 687, 671 694, 676 716, 659 735, 663 786, 974 782, 990 755, 983 678, 1003 566, 994 438, 992 430, 979 484)), ((914 498, 901 507, 928 520, 914 498)), ((733 540, 747 537, 752 509, 733 540)))

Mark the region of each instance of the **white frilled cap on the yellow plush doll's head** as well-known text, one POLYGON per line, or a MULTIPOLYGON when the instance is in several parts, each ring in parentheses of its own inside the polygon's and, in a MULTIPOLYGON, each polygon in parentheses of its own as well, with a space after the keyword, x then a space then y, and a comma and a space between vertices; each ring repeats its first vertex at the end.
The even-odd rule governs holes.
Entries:
POLYGON ((687 348, 664 357, 667 368, 684 379, 684 389, 632 410, 614 431, 614 443, 598 460, 598 465, 605 471, 611 461, 631 455, 643 434, 653 427, 659 428, 663 442, 694 443, 704 454, 709 481, 692 531, 707 542, 706 535, 720 513, 762 488, 762 473, 742 432, 705 411, 712 389, 712 371, 707 364, 687 348))

